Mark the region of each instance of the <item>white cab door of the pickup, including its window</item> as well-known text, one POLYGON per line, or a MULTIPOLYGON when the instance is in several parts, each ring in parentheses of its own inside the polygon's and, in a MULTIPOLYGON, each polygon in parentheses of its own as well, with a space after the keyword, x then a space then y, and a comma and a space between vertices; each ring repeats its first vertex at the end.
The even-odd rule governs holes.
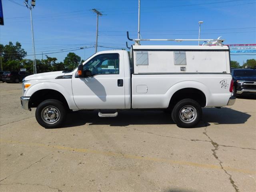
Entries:
POLYGON ((123 53, 98 54, 84 64, 85 78, 72 78, 74 102, 79 109, 124 109, 123 53))

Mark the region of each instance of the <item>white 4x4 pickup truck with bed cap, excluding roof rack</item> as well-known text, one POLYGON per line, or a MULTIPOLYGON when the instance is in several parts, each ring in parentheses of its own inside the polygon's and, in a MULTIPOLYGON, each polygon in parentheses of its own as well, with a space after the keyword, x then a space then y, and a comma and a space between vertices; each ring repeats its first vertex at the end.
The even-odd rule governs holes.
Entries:
POLYGON ((70 110, 92 109, 100 117, 165 109, 178 126, 193 127, 203 107, 235 102, 230 52, 223 45, 136 44, 130 52, 97 52, 72 71, 27 76, 22 87, 22 108, 36 108, 36 120, 45 128, 61 126, 70 110))

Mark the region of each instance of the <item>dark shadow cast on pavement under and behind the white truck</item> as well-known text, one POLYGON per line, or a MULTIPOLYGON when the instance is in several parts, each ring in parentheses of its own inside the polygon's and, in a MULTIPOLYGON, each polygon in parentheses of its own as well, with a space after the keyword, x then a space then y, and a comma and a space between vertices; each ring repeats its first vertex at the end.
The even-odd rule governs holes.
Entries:
MULTIPOLYGON (((246 114, 230 108, 204 108, 202 121, 195 127, 209 126, 213 124, 244 124, 250 114, 246 114)), ((89 125, 129 126, 129 125, 164 125, 175 124, 169 113, 163 111, 121 111, 115 118, 100 118, 98 111, 77 111, 68 115, 62 128, 89 125)))

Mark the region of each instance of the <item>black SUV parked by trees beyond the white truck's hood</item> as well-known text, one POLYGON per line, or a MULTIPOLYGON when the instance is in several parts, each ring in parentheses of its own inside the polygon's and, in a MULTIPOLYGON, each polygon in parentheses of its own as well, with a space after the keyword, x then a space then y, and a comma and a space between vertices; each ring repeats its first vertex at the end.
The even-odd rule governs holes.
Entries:
POLYGON ((22 79, 26 76, 29 76, 30 74, 26 71, 8 71, 8 72, 4 72, 3 76, 2 76, 2 80, 4 82, 15 82, 15 83, 19 83, 22 82, 22 79))

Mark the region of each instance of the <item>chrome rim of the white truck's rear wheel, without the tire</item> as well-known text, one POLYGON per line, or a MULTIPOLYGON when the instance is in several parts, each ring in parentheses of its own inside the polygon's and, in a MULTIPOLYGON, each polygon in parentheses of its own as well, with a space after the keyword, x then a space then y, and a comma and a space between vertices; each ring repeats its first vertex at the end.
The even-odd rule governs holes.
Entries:
POLYGON ((180 109, 179 118, 184 123, 191 123, 196 120, 197 111, 191 105, 184 106, 180 109))

